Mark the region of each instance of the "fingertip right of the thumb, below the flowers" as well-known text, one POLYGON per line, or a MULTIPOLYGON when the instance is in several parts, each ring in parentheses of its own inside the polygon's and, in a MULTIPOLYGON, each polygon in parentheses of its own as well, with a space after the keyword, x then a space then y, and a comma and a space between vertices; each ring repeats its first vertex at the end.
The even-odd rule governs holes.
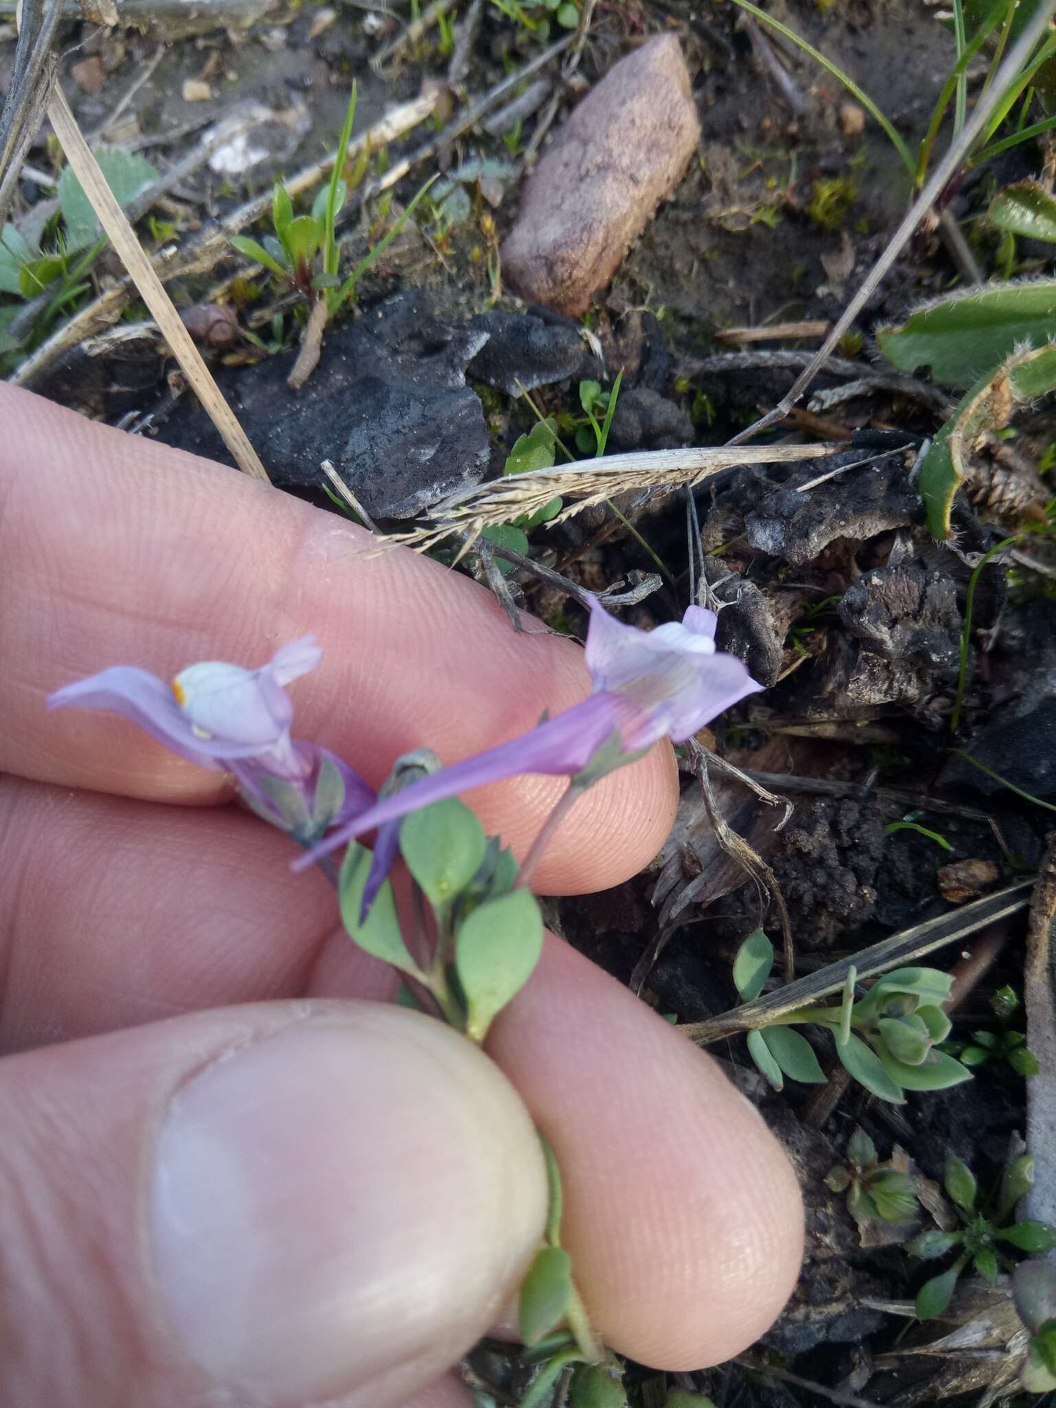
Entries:
POLYGON ((796 1284, 803 1209, 719 1067, 556 939, 490 1052, 558 1153, 563 1240, 605 1342, 686 1370, 758 1339, 796 1284))

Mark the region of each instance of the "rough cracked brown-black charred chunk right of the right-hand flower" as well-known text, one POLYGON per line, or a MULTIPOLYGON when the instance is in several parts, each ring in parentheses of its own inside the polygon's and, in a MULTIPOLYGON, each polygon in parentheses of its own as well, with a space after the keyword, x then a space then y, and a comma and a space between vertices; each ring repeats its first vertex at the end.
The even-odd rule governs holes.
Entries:
POLYGON ((952 683, 960 650, 953 580, 917 560, 867 572, 838 607, 862 642, 848 694, 865 704, 917 704, 952 683))

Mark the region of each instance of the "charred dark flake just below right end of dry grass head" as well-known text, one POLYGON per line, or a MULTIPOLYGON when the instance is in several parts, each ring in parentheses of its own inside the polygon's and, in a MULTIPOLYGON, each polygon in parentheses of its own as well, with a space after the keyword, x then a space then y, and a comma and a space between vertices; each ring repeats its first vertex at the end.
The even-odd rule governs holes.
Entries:
MULTIPOLYGON (((863 458, 862 451, 848 451, 826 462, 826 469, 836 469, 839 463, 856 465, 863 458)), ((803 565, 814 562, 836 538, 865 541, 891 528, 904 528, 921 514, 921 501, 910 484, 901 453, 859 465, 817 489, 800 493, 796 487, 817 477, 817 469, 807 466, 748 514, 745 531, 753 548, 803 565)))

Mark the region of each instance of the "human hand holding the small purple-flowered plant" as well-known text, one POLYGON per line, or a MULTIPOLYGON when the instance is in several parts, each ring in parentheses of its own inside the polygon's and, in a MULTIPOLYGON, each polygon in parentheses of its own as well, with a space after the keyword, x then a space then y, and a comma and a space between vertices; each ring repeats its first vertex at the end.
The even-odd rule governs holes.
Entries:
MULTIPOLYGON (((587 691, 574 645, 331 514, 0 386, 0 1400, 11 1408, 459 1408, 448 1367, 545 1217, 598 1333, 659 1367, 736 1353, 796 1277, 798 1190, 707 1056, 556 939, 483 1057, 382 1005, 389 970, 286 838, 131 725, 49 715, 127 662, 252 665, 313 632, 296 731, 377 786, 587 691), (500 1074, 500 1069, 504 1074, 500 1074)), ((559 779, 472 797, 524 852, 559 779)), ((666 746, 598 783, 542 893, 634 874, 666 746)))

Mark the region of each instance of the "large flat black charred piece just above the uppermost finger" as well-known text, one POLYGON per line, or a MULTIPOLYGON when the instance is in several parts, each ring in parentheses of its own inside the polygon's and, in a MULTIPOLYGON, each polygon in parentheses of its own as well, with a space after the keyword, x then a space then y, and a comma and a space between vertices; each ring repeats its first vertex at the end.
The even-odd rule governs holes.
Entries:
MULTIPOLYGON (((272 483, 321 484, 328 459, 373 518, 413 518, 484 476, 487 425, 466 366, 486 339, 482 329, 441 322, 414 293, 328 331, 303 391, 286 384, 293 355, 217 380, 272 483)), ((231 463, 197 407, 180 407, 159 439, 231 463)))

